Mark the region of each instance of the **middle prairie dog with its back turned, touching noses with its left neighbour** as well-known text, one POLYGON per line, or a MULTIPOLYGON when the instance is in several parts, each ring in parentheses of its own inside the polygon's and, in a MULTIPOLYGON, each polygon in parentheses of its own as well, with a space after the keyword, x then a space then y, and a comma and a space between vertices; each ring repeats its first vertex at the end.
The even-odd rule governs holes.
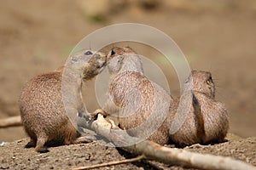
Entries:
POLYGON ((139 55, 129 47, 113 48, 107 65, 111 80, 102 109, 131 136, 166 144, 168 129, 162 123, 169 113, 170 94, 144 76, 139 55))

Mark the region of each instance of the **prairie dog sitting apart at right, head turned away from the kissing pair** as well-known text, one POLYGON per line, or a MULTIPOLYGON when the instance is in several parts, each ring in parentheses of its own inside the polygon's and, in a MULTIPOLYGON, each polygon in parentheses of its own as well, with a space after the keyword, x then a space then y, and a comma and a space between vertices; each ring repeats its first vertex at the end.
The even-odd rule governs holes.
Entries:
POLYGON ((212 74, 207 71, 192 71, 185 82, 185 88, 182 100, 174 99, 172 112, 166 120, 171 141, 178 146, 223 142, 229 129, 228 113, 224 105, 215 100, 212 74), (175 116, 179 104, 185 105, 189 110, 187 115, 179 113, 185 117, 184 122, 174 130, 175 126, 170 125, 178 121, 175 116))

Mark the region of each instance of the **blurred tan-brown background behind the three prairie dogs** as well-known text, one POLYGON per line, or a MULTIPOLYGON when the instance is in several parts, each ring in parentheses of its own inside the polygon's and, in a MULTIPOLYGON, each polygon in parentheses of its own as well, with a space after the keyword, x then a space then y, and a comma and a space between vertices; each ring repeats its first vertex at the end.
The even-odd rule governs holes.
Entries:
MULTIPOLYGON (((254 0, 1 1, 0 118, 20 114, 18 99, 26 81, 63 65, 92 31, 124 22, 154 26, 172 37, 192 69, 212 72, 217 99, 230 113, 230 133, 256 135, 254 0)), ((172 96, 179 95, 176 72, 157 52, 142 44, 122 45, 131 45, 160 65, 172 96)), ((83 89, 88 110, 94 111, 94 80, 83 89)), ((24 137, 22 127, 0 129, 0 142, 24 137)))

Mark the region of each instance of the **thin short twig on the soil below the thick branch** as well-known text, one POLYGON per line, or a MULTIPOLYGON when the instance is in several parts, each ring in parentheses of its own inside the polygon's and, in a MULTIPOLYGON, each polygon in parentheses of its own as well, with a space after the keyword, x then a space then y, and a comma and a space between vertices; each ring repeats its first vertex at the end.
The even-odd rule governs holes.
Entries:
POLYGON ((84 170, 84 169, 93 169, 93 168, 98 168, 98 167, 108 167, 108 166, 119 165, 119 164, 124 164, 124 163, 131 163, 133 161, 141 161, 144 158, 145 158, 145 156, 137 156, 135 158, 125 159, 125 160, 121 160, 121 161, 110 161, 108 163, 90 165, 90 166, 86 166, 86 167, 71 168, 71 170, 84 170))

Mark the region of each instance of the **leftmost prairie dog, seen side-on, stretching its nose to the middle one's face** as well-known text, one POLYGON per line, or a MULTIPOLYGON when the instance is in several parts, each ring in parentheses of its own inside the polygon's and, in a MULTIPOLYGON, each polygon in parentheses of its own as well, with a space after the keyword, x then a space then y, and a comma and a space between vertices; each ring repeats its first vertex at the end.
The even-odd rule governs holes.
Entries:
POLYGON ((67 67, 72 73, 69 74, 70 82, 75 82, 76 99, 75 109, 79 114, 90 119, 85 112, 82 103, 81 86, 84 81, 95 77, 102 71, 107 56, 90 50, 82 50, 71 56, 68 66, 61 66, 56 71, 51 71, 33 77, 26 82, 20 94, 20 116, 26 133, 31 141, 26 147, 36 146, 38 152, 47 152, 45 143, 55 139, 63 140, 64 144, 74 144, 79 136, 76 127, 67 117, 67 112, 62 100, 62 75, 67 67))

